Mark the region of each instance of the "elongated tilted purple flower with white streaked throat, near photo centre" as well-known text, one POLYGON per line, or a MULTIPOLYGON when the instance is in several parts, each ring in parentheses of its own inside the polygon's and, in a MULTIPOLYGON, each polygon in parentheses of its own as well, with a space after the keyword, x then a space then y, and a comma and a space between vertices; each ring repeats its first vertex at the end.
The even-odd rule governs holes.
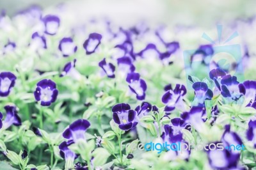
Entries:
POLYGON ((129 73, 126 77, 126 81, 129 82, 129 88, 133 93, 136 94, 138 100, 145 99, 145 91, 147 89, 147 84, 143 79, 140 79, 139 73, 129 73))

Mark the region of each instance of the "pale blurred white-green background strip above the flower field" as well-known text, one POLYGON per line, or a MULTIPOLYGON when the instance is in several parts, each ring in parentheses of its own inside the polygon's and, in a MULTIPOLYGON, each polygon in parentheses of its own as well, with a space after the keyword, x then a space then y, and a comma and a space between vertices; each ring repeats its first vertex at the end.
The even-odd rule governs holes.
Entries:
POLYGON ((74 15, 80 15, 78 19, 104 15, 124 24, 136 19, 148 19, 152 22, 204 27, 216 22, 228 24, 235 19, 252 19, 256 6, 254 0, 2 0, 0 9, 13 16, 31 4, 49 8, 61 3, 66 3, 74 15))

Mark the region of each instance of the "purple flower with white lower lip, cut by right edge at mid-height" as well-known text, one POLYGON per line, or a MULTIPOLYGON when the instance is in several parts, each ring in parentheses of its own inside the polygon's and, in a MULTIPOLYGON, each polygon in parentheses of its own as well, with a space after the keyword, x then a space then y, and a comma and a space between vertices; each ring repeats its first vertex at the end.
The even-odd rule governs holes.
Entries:
POLYGON ((256 81, 244 81, 238 85, 239 91, 244 93, 244 97, 249 101, 255 101, 256 97, 256 81))

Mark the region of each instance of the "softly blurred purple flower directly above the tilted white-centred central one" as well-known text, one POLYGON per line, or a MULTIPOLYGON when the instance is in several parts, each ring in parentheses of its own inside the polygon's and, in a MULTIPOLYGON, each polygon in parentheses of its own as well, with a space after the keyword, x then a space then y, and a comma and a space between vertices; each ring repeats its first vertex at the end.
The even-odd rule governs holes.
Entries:
POLYGON ((127 75, 127 73, 134 72, 135 66, 132 64, 131 58, 122 57, 117 59, 118 70, 127 75))

